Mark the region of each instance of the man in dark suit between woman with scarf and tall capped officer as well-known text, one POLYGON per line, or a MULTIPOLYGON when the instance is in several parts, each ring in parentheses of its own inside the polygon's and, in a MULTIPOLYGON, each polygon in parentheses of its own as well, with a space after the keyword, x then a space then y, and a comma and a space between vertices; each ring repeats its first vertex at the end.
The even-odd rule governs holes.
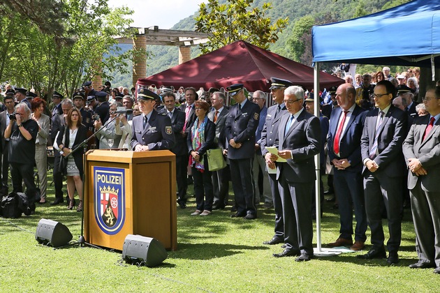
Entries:
MULTIPOLYGON (((212 111, 208 119, 215 124, 215 139, 221 149, 227 149, 225 136, 225 121, 228 117, 229 108, 224 105, 225 94, 221 91, 214 91, 211 96, 212 111)), ((212 172, 212 187, 214 190, 214 203, 212 209, 224 209, 228 202, 230 170, 229 165, 225 168, 212 172)))

